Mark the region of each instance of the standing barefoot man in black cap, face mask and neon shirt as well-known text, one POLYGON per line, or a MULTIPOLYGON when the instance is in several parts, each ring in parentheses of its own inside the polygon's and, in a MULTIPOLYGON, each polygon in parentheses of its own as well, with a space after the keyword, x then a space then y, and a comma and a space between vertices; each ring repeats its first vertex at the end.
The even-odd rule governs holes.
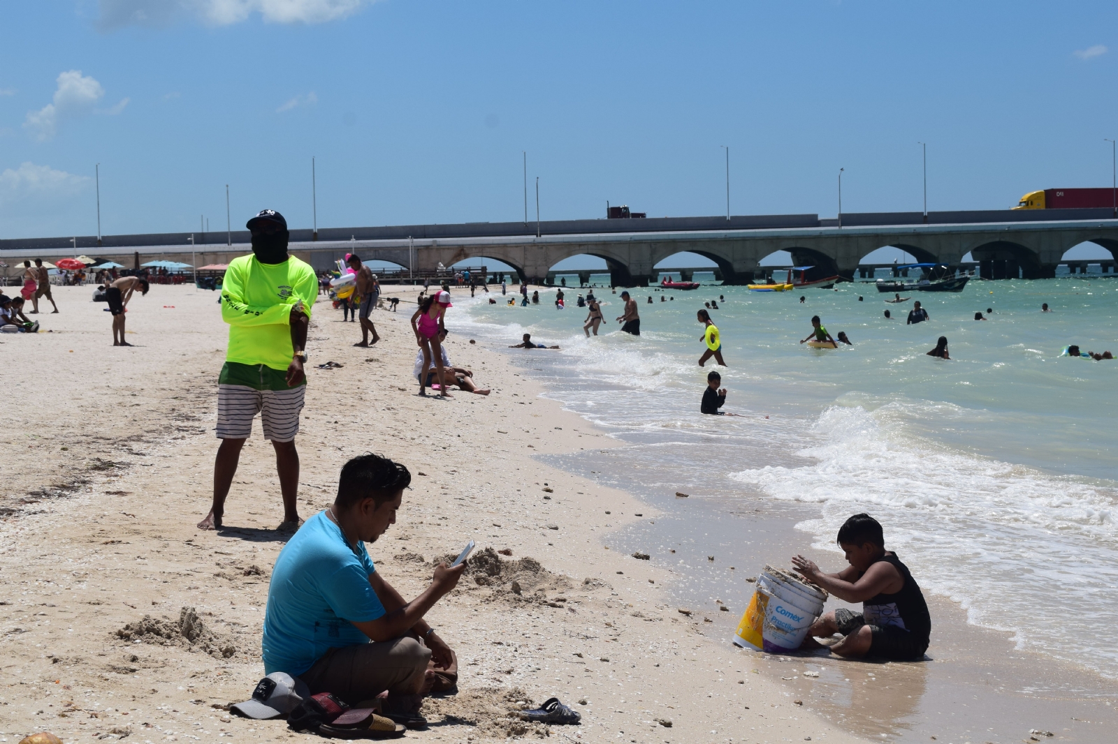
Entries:
POLYGON ((221 526, 225 499, 253 419, 276 452, 284 530, 299 527, 299 451, 295 435, 306 391, 306 328, 319 296, 314 269, 287 255, 287 220, 265 209, 248 220, 253 254, 229 261, 221 285, 221 319, 229 345, 218 378, 214 503, 199 530, 221 526))

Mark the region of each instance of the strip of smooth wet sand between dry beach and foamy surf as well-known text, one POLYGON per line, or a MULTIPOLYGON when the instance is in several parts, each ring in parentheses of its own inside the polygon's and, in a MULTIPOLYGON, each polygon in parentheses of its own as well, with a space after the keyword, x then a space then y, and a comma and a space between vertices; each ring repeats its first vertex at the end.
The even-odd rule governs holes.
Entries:
MULTIPOLYGON (((531 369, 521 366, 525 371, 531 369)), ((539 376, 543 380, 544 390, 549 390, 547 382, 553 379, 553 374, 544 373, 539 376)), ((544 394, 562 404, 562 393, 550 391, 544 394)), ((570 394, 569 391, 567 394, 570 394)), ((586 423, 595 426, 589 421, 586 423)), ((596 428, 605 431, 604 428, 596 428)), ((648 445, 626 441, 623 435, 615 439, 619 442, 619 449, 605 452, 601 457, 591 455, 588 464, 570 456, 546 459, 571 474, 587 478, 594 478, 595 473, 608 473, 610 476, 607 480, 615 487, 624 487, 618 483, 624 480, 639 483, 641 456, 635 452, 648 445)), ((697 494, 685 500, 674 498, 673 489, 664 484, 643 486, 641 490, 644 495, 638 498, 648 508, 661 512, 661 518, 657 519, 660 526, 653 527, 647 524, 647 519, 643 524, 629 525, 615 533, 609 544, 624 546, 625 553, 633 550, 651 553, 653 565, 663 565, 673 573, 678 571, 678 580, 670 584, 678 602, 695 607, 700 601, 705 601, 703 607, 710 611, 707 617, 716 621, 714 627, 727 639, 732 637, 740 610, 751 593, 751 586, 742 580, 747 575, 755 575, 764 563, 784 563, 784 554, 800 551, 836 567, 842 563, 841 556, 831 551, 813 549, 813 552, 787 547, 802 545, 804 542, 811 545, 814 542, 811 533, 797 530, 796 525, 818 517, 818 505, 776 500, 759 494, 747 494, 740 499, 713 496, 709 499, 710 504, 698 509, 701 512, 700 516, 689 516, 689 512, 697 511, 697 500, 701 503, 708 499, 701 496, 695 499, 697 494), (761 513, 765 517, 758 521, 750 513, 761 513), (700 534, 712 522, 728 516, 736 524, 718 534, 722 542, 717 544, 717 551, 733 554, 729 563, 737 564, 737 573, 713 569, 712 564, 704 561, 703 556, 716 552, 716 546, 709 542, 705 546, 692 545, 690 551, 684 547, 690 535, 700 534), (759 541, 761 545, 735 550, 735 532, 746 528, 746 525, 750 525, 750 532, 759 532, 764 527, 766 534, 759 541), (682 538, 682 542, 678 538, 682 538), (670 556, 671 562, 665 560, 669 556, 663 553, 665 543, 669 542, 680 551, 680 554, 670 556), (653 545, 659 545, 660 555, 652 549, 653 545), (681 559, 681 555, 684 557, 681 559), (685 567, 679 569, 680 564, 685 567), (741 573, 743 565, 746 573, 741 573), (710 578, 711 570, 718 579, 710 578), (711 597, 700 597, 710 592, 714 593, 711 597), (730 613, 717 611, 717 605, 712 604, 716 597, 730 602, 730 613)), ((718 560, 721 561, 721 555, 718 560)), ((721 565, 724 569, 726 564, 721 565)), ((967 611, 946 597, 929 593, 927 598, 937 618, 938 638, 934 631, 932 647, 928 651, 931 660, 926 665, 916 665, 926 668, 913 671, 913 665, 884 664, 873 665, 870 667, 872 673, 865 673, 856 661, 842 661, 828 656, 796 655, 768 664, 770 679, 783 677, 780 681, 790 681, 797 694, 805 696, 805 700, 806 696, 816 698, 822 715, 828 719, 841 723, 852 733, 875 738, 883 735, 899 741, 927 741, 929 735, 966 738, 980 732, 991 741, 1010 741, 1014 736, 1027 734, 1029 728, 1038 728, 1053 731, 1065 741, 1108 741, 1108 729, 1114 724, 1110 699, 1118 695, 1115 680, 1102 677, 1086 666, 1076 666, 1039 651, 1017 649, 1011 638, 1012 632, 970 622, 967 611), (821 678, 813 680, 795 677, 789 680, 784 674, 789 668, 789 662, 811 665, 821 671, 821 678), (844 677, 839 669, 851 675, 851 678, 844 677), (861 698, 854 675, 869 675, 866 679, 871 681, 874 678, 884 681, 885 685, 878 687, 899 688, 903 690, 903 696, 896 699, 885 696, 885 702, 861 698), (852 683, 851 679, 855 681, 852 683), (940 717, 945 708, 953 709, 949 726, 940 717), (856 718, 854 710, 863 716, 862 721, 856 718), (1021 728, 1022 721, 1029 722, 1025 729, 1021 728)), ((843 605, 849 607, 832 600, 827 609, 843 605)))

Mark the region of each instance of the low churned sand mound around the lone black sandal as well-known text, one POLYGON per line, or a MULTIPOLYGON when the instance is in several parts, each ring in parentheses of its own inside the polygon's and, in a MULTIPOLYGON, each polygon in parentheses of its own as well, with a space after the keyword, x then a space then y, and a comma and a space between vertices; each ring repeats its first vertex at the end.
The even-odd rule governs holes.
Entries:
POLYGON ((528 723, 517 715, 532 707, 532 698, 519 687, 481 687, 461 690, 453 697, 428 698, 424 700, 423 713, 432 722, 442 716, 448 723, 474 726, 485 738, 550 736, 551 727, 547 724, 528 723))

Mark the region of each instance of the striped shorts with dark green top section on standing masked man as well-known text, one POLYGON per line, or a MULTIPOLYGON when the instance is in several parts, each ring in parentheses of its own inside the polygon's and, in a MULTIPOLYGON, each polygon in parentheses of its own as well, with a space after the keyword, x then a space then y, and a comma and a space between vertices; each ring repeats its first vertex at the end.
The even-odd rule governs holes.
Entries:
POLYGON ((305 392, 305 381, 288 388, 283 370, 226 362, 218 379, 218 439, 248 439, 253 419, 259 413, 265 439, 292 441, 299 433, 305 392))

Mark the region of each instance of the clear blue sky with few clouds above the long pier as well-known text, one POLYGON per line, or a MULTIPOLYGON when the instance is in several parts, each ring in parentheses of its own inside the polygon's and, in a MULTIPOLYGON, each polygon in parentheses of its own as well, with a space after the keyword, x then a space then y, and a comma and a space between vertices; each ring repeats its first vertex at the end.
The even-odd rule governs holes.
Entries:
POLYGON ((1118 4, 0 4, 0 238, 1003 209, 1111 184, 1118 4))

